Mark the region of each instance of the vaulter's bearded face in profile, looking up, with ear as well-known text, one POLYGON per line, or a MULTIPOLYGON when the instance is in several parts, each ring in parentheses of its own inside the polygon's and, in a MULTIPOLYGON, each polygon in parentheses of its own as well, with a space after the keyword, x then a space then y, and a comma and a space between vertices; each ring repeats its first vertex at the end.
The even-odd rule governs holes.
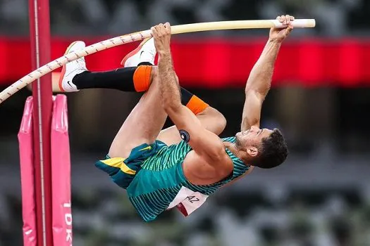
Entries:
POLYGON ((238 149, 246 151, 251 156, 257 156, 261 141, 268 138, 273 131, 251 127, 247 131, 240 131, 235 135, 235 145, 238 149))

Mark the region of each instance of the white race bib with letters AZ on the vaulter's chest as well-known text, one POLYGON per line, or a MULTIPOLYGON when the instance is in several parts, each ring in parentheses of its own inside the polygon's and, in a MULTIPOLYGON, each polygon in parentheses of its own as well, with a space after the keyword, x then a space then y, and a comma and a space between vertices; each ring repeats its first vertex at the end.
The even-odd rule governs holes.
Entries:
POLYGON ((202 206, 206 198, 208 195, 182 187, 167 209, 176 207, 184 216, 188 216, 202 206))

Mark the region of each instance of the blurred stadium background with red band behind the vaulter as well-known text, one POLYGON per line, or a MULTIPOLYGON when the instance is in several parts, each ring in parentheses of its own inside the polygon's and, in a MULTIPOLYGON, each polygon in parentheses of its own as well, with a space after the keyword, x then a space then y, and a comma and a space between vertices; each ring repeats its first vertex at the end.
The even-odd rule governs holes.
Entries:
MULTIPOLYGON (((220 190, 184 219, 167 212, 145 224, 94 167, 140 95, 91 90, 68 95, 74 245, 370 245, 370 1, 58 0, 50 1, 52 58, 70 41, 87 44, 147 30, 220 20, 316 18, 280 51, 263 127, 283 129, 290 156, 220 190)), ((26 0, 0 0, 1 90, 31 70, 26 0)), ((243 87, 268 30, 173 37, 180 83, 240 127, 243 87)), ((137 44, 87 58, 90 70, 118 67, 137 44)), ((22 245, 17 133, 27 90, 0 106, 0 245, 22 245)))

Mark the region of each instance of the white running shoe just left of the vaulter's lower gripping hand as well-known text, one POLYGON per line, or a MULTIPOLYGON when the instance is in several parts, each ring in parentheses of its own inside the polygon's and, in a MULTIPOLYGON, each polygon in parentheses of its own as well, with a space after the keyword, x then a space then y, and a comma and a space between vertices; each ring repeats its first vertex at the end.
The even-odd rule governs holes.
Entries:
POLYGON ((123 67, 136 67, 139 63, 152 63, 156 58, 156 47, 154 39, 144 39, 137 48, 128 53, 121 61, 123 67))

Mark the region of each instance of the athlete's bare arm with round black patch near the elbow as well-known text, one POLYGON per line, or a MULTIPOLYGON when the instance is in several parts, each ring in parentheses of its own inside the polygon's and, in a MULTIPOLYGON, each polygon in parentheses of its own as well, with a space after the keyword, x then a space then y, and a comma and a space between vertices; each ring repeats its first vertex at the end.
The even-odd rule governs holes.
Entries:
POLYGON ((179 129, 183 140, 187 141, 198 155, 215 165, 225 163, 223 158, 227 155, 221 139, 204 129, 199 119, 181 104, 180 86, 171 57, 171 26, 168 23, 157 25, 152 27, 152 33, 159 54, 159 91, 164 110, 179 129))

